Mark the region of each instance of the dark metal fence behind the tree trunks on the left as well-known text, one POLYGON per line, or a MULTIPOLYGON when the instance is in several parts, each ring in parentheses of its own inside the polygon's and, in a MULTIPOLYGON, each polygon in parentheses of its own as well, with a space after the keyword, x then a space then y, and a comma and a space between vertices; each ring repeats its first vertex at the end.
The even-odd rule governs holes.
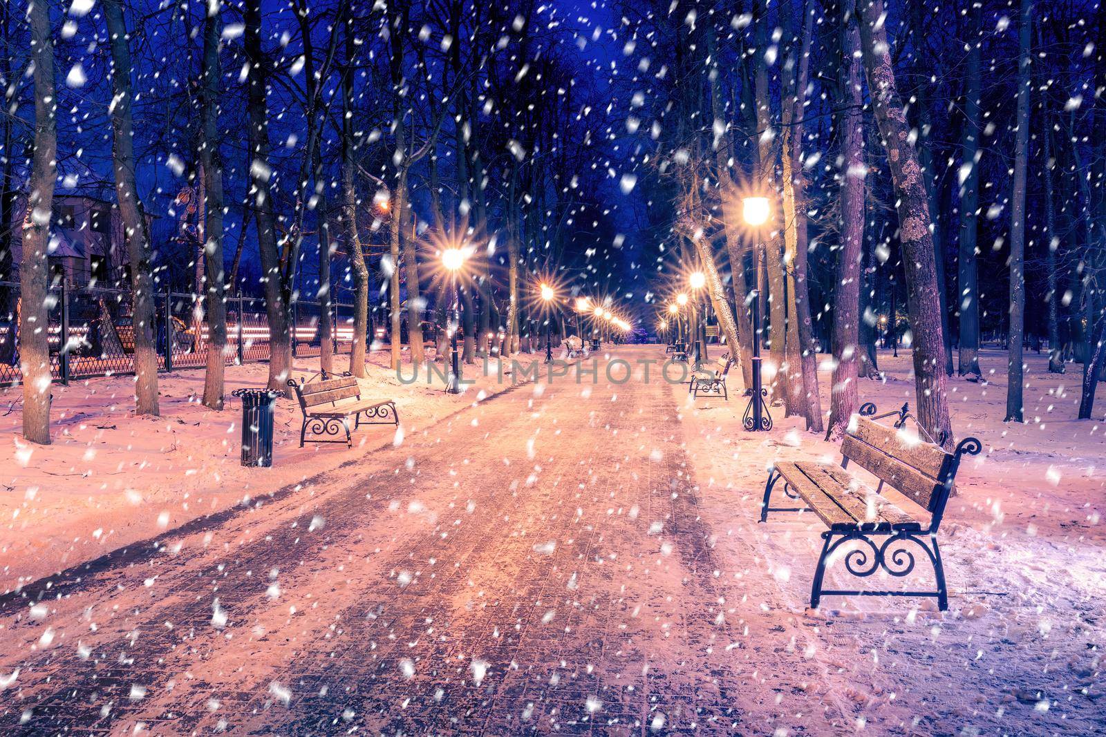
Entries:
MULTIPOLYGON (((194 294, 155 295, 158 368, 174 370, 207 365, 208 324, 205 304, 194 294)), ((50 370, 69 382, 95 376, 134 372, 132 297, 125 289, 95 286, 52 287, 48 296, 50 370)), ((19 383, 19 284, 0 282, 0 383, 19 383)), ((353 305, 332 303, 323 315, 319 302, 292 303, 292 351, 295 357, 320 354, 320 324, 331 320, 336 354, 353 347, 353 305)), ((228 365, 269 360, 269 323, 264 301, 227 298, 228 365)))

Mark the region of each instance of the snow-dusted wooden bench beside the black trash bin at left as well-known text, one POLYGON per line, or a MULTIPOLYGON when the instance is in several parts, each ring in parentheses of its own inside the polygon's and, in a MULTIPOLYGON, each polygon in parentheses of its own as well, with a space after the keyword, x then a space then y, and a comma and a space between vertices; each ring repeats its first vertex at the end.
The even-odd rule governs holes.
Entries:
MULTIPOLYGON (((300 448, 303 448, 307 430, 314 435, 337 435, 345 430, 346 448, 353 448, 353 436, 349 433, 349 418, 354 419, 353 429, 363 424, 399 424, 399 412, 396 403, 387 399, 383 402, 362 401, 361 385, 357 377, 348 371, 333 377, 323 371, 317 381, 295 381, 289 379, 288 386, 295 391, 303 412, 303 427, 300 428, 300 448)), ((338 440, 317 440, 319 443, 341 443, 338 440)))

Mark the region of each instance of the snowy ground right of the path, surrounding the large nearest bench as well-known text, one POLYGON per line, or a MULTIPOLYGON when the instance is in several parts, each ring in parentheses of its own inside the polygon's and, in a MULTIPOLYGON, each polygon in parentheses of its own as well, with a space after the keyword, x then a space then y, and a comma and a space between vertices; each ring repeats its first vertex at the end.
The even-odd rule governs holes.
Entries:
MULTIPOLYGON (((701 514, 714 529, 724 576, 739 590, 774 581, 763 602, 776 612, 774 639, 790 640, 790 647, 820 663, 824 673, 821 682, 802 687, 854 714, 858 728, 877 720, 911 733, 947 731, 948 725, 933 722, 927 703, 941 704, 942 712, 984 733, 1051 731, 1055 723, 1043 717, 1050 709, 1053 717, 1061 713, 1071 734, 1103 728, 1106 391, 1099 389, 1098 420, 1074 420, 1079 367, 1048 375, 1046 357, 1030 355, 1027 422, 1003 423, 1005 360, 1004 352, 984 350, 980 362, 989 383, 949 381, 957 438, 977 436, 983 452, 961 465, 958 495, 940 528, 950 588, 945 613, 932 600, 860 597, 826 597, 821 611, 808 610, 825 527, 810 514, 774 513, 760 524, 765 468, 775 459, 837 462, 838 445, 805 432, 797 418, 784 419, 782 407, 772 408, 772 432, 743 432, 748 399, 740 393, 731 393, 728 403, 692 403, 684 387, 674 388, 697 470, 701 514), (753 560, 748 559, 750 539, 755 540, 753 560)), ((879 362, 886 380, 862 380, 862 401, 875 402, 880 412, 904 401, 912 408, 909 351, 899 358, 880 352, 879 362)), ((823 373, 820 383, 826 407, 830 376, 823 373)), ((895 492, 887 494, 910 507, 895 492)), ((927 567, 920 557, 907 579, 911 587, 932 586, 927 567)), ((827 588, 856 588, 856 579, 842 575, 842 568, 838 559, 827 573, 827 588)), ((880 573, 860 586, 904 585, 880 573)), ((789 674, 773 672, 771 664, 764 678, 765 687, 794 687, 789 674)))

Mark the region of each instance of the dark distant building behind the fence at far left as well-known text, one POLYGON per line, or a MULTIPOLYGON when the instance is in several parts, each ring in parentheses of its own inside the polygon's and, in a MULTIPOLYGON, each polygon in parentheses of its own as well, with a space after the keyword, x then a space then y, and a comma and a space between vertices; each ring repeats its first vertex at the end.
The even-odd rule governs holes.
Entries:
MULTIPOLYGON (((0 278, 18 282, 27 194, 17 192, 14 198, 10 273, 0 274, 0 278)), ((114 202, 87 194, 55 194, 51 220, 48 259, 53 283, 64 280, 71 286, 129 285, 131 260, 123 219, 114 202)))

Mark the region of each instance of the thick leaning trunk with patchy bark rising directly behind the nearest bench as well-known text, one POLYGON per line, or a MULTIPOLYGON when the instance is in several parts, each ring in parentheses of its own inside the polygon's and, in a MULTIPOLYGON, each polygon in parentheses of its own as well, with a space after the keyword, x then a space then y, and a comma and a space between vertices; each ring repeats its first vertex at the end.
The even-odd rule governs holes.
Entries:
POLYGON ((887 149, 897 199, 902 261, 907 264, 907 308, 914 333, 911 352, 918 422, 935 440, 948 446, 952 443, 952 423, 942 370, 941 302, 937 292, 929 202, 918 154, 910 143, 902 101, 895 86, 883 0, 859 0, 857 13, 868 91, 887 149))

